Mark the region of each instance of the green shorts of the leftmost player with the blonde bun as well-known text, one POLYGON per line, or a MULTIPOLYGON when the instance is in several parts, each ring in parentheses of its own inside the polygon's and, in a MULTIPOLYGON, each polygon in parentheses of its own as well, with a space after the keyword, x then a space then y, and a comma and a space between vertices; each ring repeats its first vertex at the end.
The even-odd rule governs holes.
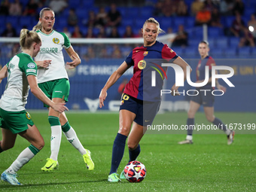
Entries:
POLYGON ((2 128, 11 130, 14 134, 27 130, 28 124, 34 125, 27 111, 5 111, 2 108, 0 108, 0 123, 2 128))

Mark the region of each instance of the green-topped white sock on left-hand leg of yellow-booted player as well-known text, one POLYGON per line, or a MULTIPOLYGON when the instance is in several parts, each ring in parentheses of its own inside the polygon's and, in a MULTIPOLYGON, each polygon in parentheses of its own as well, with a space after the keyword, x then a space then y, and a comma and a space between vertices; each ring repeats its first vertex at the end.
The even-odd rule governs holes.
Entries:
POLYGON ((51 128, 51 137, 50 137, 50 159, 57 160, 59 154, 59 147, 61 142, 61 126, 59 123, 59 117, 48 117, 50 128, 51 128))

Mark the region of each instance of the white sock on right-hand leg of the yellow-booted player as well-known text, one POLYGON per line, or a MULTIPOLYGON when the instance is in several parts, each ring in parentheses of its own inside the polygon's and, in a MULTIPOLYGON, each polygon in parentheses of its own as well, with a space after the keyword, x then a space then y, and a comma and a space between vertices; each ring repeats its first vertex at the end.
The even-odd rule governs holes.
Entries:
POLYGON ((63 133, 65 134, 68 141, 74 146, 74 148, 76 148, 80 152, 81 155, 87 153, 84 149, 84 146, 79 141, 75 130, 72 127, 70 127, 69 131, 63 133))

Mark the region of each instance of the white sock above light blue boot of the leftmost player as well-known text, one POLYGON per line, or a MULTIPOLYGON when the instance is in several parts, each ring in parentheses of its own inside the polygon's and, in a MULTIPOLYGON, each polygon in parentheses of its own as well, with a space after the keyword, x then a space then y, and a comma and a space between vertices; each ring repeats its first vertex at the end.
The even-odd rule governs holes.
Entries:
POLYGON ((32 151, 29 148, 24 149, 20 155, 17 157, 16 160, 14 160, 14 163, 11 164, 11 166, 6 169, 8 173, 14 174, 18 170, 20 170, 21 167, 23 167, 26 163, 29 162, 29 160, 34 157, 35 154, 32 153, 32 151))

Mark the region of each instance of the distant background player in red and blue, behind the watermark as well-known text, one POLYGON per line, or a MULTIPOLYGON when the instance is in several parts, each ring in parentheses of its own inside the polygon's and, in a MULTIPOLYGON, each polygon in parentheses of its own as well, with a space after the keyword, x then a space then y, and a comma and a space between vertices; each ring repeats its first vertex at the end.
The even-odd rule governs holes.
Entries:
MULTIPOLYGON (((200 44, 198 45, 198 51, 200 53, 201 59, 197 65, 197 83, 201 83, 205 80, 206 66, 209 66, 210 71, 212 69, 212 66, 215 66, 215 60, 212 58, 212 56, 209 56, 209 50, 209 43, 207 41, 200 41, 200 44)), ((227 134, 227 145, 230 145, 233 142, 233 136, 235 133, 232 130, 227 129, 224 123, 222 123, 222 121, 214 115, 213 105, 215 101, 215 96, 211 94, 212 90, 214 89, 212 87, 211 74, 212 72, 209 72, 208 84, 203 87, 198 87, 197 91, 199 92, 199 94, 197 96, 192 96, 192 99, 190 100, 190 106, 187 112, 187 126, 190 128, 187 130, 186 140, 178 142, 178 144, 193 144, 192 133, 194 126, 194 117, 198 109, 200 108, 200 105, 203 105, 206 119, 209 120, 209 122, 217 125, 220 129, 224 130, 224 132, 227 134), (204 91, 200 90, 211 91, 207 91, 205 93, 204 91)), ((218 90, 223 90, 224 92, 226 91, 226 88, 221 86, 218 81, 216 81, 216 87, 218 88, 218 90)))

